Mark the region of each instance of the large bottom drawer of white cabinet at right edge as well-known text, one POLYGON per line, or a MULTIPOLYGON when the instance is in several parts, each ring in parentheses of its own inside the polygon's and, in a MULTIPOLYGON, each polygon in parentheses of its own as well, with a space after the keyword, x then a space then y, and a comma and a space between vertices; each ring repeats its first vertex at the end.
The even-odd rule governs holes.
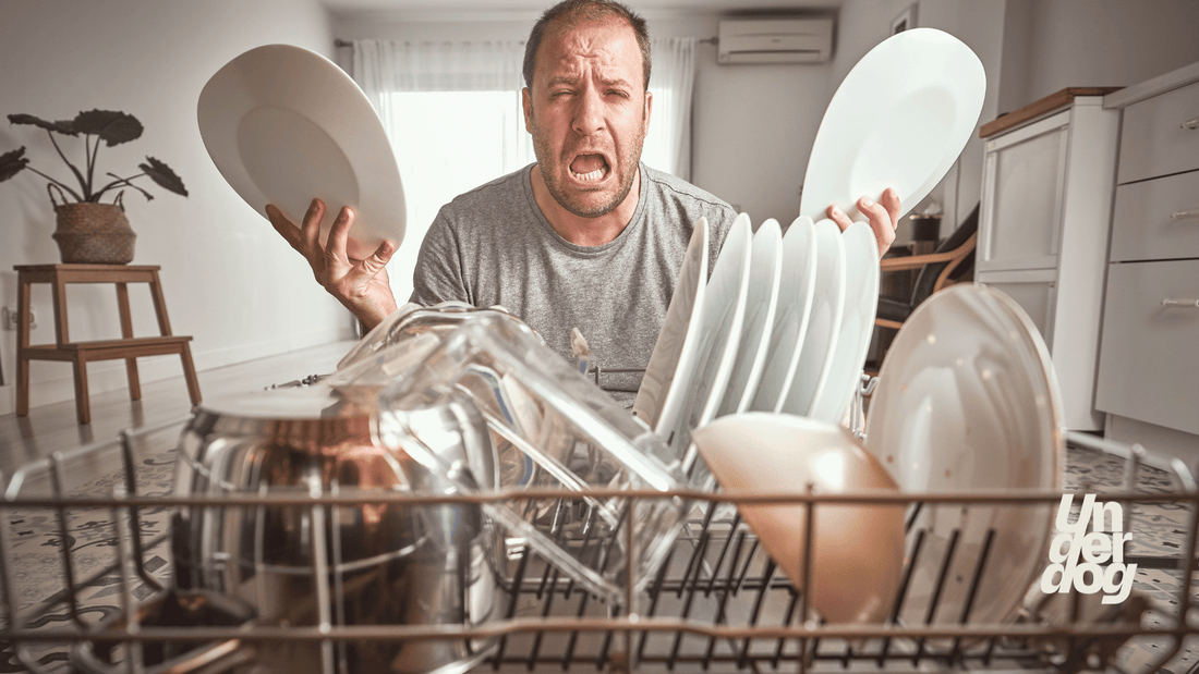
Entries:
POLYGON ((1199 433, 1199 260, 1113 263, 1095 406, 1199 433))

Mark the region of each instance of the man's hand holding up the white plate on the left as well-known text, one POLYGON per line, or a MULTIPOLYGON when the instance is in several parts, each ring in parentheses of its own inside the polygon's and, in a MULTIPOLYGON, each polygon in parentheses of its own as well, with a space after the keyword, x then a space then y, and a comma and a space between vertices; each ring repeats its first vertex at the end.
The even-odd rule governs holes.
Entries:
POLYGON ((350 260, 345 254, 354 211, 343 207, 329 231, 329 241, 320 243, 320 220, 325 217, 325 204, 313 199, 305 213, 303 225, 297 227, 273 205, 266 206, 266 215, 275 230, 283 236, 308 261, 312 274, 330 295, 349 309, 366 329, 378 326, 396 310, 396 298, 387 283, 384 265, 396 253, 396 244, 385 241, 366 260, 350 260))

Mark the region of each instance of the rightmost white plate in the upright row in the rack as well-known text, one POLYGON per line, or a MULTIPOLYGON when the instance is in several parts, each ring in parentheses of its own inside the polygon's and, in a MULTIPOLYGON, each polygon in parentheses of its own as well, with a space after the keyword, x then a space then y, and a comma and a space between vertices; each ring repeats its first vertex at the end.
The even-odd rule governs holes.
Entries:
POLYGON ((830 424, 840 423, 858 385, 879 309, 879 244, 874 230, 866 223, 854 223, 840 238, 845 244, 845 309, 829 375, 808 411, 808 417, 830 424))

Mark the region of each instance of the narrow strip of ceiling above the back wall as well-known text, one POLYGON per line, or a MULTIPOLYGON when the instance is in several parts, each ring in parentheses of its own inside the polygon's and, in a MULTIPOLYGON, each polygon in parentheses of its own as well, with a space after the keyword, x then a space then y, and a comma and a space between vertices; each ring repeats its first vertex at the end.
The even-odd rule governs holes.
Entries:
MULTIPOLYGON (((320 0, 336 16, 386 16, 396 18, 428 17, 447 20, 463 18, 477 20, 482 16, 528 17, 540 14, 554 0, 320 0)), ((753 13, 759 11, 789 12, 829 10, 843 0, 627 0, 628 5, 646 18, 695 13, 753 13)))

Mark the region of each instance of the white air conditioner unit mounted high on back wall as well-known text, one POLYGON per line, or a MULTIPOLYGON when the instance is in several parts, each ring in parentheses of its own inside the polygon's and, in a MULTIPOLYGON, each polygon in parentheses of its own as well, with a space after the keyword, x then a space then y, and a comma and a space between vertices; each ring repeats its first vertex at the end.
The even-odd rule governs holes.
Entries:
POLYGON ((832 19, 721 22, 718 63, 819 63, 832 56, 832 19))

